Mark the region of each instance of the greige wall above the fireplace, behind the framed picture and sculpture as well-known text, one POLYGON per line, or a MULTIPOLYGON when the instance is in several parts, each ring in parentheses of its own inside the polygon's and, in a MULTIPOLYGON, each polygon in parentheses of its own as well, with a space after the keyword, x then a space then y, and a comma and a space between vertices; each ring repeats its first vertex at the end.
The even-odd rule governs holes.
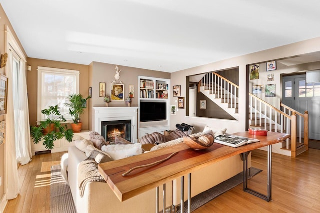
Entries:
MULTIPOLYGON (((103 97, 99 97, 99 82, 105 82, 105 94, 110 95, 110 84, 114 79, 115 64, 106 64, 100 62, 92 62, 89 65, 89 87, 92 87, 92 98, 89 99, 89 106, 99 107, 104 106, 103 97)), ((134 85, 134 98, 131 99, 131 106, 138 105, 138 78, 137 76, 150 76, 156 78, 170 79, 170 73, 159 72, 154 70, 133 68, 128 66, 119 66, 120 78, 116 81, 121 81, 124 84, 124 98, 129 94, 129 85, 134 85)), ((126 106, 124 101, 111 101, 109 106, 126 106)), ((89 114, 89 129, 91 129, 91 113, 89 114)))

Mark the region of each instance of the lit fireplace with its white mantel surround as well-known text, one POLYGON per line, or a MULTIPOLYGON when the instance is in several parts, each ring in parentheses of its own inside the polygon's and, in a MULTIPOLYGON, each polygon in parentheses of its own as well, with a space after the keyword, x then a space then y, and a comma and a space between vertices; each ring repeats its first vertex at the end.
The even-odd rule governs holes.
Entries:
POLYGON ((137 109, 137 107, 93 107, 92 131, 98 132, 106 140, 114 141, 114 136, 117 135, 136 143, 137 109))

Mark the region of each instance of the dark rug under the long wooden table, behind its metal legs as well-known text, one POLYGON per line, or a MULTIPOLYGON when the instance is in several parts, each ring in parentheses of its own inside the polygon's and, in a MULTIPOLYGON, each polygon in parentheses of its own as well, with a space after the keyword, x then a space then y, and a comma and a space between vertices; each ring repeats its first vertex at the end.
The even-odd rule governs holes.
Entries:
MULTIPOLYGON (((251 167, 250 169, 248 169, 248 178, 252 178, 254 175, 260 172, 262 172, 262 170, 251 167)), ((212 187, 211 189, 208 189, 207 191, 194 196, 193 198, 191 198, 191 212, 241 183, 243 183, 242 172, 212 187)), ((186 209, 187 201, 184 202, 184 210, 186 209)), ((180 213, 180 207, 177 207, 177 213, 180 213)))

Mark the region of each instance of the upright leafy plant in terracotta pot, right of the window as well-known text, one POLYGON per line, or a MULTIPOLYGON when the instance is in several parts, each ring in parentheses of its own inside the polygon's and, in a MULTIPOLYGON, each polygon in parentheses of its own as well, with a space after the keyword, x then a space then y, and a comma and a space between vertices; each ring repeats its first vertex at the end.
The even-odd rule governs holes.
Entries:
POLYGON ((73 120, 73 123, 71 123, 73 132, 81 132, 80 115, 84 112, 84 106, 88 98, 84 99, 81 94, 75 93, 68 96, 69 103, 65 103, 65 106, 69 107, 69 114, 73 120))

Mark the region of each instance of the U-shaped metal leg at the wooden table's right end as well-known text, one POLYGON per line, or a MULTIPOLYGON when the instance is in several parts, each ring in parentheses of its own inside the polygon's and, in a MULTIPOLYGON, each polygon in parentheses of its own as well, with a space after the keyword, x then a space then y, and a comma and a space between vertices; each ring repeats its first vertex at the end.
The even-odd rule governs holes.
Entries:
POLYGON ((247 158, 248 158, 248 152, 244 152, 243 154, 243 191, 248 192, 254 196, 257 196, 267 202, 271 200, 271 154, 272 154, 272 145, 267 146, 267 195, 263 195, 259 192, 256 192, 254 190, 251 190, 247 187, 247 158))

